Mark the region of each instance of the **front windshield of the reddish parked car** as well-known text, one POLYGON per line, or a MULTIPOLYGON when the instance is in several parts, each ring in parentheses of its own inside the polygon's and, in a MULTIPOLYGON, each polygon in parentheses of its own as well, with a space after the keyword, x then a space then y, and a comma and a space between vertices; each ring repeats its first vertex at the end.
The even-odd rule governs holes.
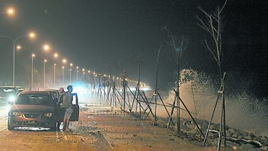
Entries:
POLYGON ((52 106, 52 97, 41 94, 21 94, 15 104, 52 106))

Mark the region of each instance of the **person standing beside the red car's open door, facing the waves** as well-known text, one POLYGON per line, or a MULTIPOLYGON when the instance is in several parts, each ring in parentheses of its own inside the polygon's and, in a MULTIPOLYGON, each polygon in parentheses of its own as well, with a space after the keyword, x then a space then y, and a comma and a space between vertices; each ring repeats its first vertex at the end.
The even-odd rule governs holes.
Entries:
POLYGON ((69 131, 69 122, 70 122, 70 117, 71 113, 73 113, 73 108, 72 108, 72 102, 73 102, 73 94, 71 93, 73 91, 73 86, 69 85, 67 86, 67 92, 64 93, 63 95, 63 104, 62 108, 65 108, 65 115, 63 118, 63 130, 69 131))

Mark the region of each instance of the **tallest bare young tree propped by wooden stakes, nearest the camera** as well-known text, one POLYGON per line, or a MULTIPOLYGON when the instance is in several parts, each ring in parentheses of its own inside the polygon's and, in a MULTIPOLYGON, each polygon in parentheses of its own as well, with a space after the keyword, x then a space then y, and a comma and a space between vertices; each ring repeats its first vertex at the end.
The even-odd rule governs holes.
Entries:
MULTIPOLYGON (((223 105, 222 105, 222 111, 221 111, 221 126, 219 130, 219 142, 218 142, 218 150, 221 146, 221 138, 222 135, 224 136, 224 145, 226 146, 226 133, 225 133, 225 97, 224 97, 224 80, 225 80, 225 72, 222 70, 222 60, 223 60, 223 51, 222 51, 222 32, 223 32, 223 8, 225 8, 225 5, 227 3, 227 0, 223 4, 222 7, 216 8, 214 12, 205 12, 202 8, 199 8, 199 10, 203 13, 205 16, 205 19, 201 19, 199 16, 197 16, 198 19, 198 25, 199 27, 203 28, 205 32, 207 32, 210 35, 210 38, 212 39, 212 43, 208 42, 208 39, 206 36, 205 38, 205 46, 208 48, 214 59, 216 60, 216 65, 219 67, 219 74, 221 78, 221 87, 218 91, 218 97, 216 100, 216 104, 214 106, 214 110, 212 113, 212 117, 210 119, 210 124, 212 122, 214 111, 216 108, 216 105, 218 103, 220 95, 222 95, 223 105), (223 132, 221 130, 223 126, 223 132), (223 133, 223 134, 222 134, 223 133)), ((205 140, 208 137, 208 132, 210 128, 210 124, 208 125, 207 132, 205 134, 205 139, 203 141, 203 145, 205 144, 205 140)))

